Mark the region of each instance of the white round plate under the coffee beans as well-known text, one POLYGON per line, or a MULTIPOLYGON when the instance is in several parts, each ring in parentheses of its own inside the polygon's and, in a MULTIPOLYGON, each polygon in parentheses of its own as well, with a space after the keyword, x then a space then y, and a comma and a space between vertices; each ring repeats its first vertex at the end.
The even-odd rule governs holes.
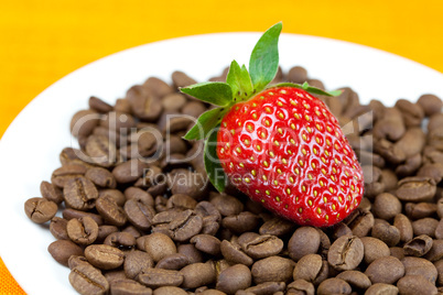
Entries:
MULTIPOLYGON (((68 269, 48 254, 47 226, 24 215, 23 203, 40 195, 40 183, 60 166, 58 153, 72 145, 72 114, 89 96, 109 102, 149 76, 170 81, 176 69, 197 80, 218 75, 233 58, 248 64, 259 33, 209 34, 168 40, 127 50, 91 63, 37 96, 13 121, 0 144, 0 255, 30 295, 76 294, 68 269)), ((443 75, 378 50, 313 36, 282 34, 280 62, 307 68, 328 89, 352 86, 364 102, 378 98, 417 100, 424 92, 443 97, 443 75)), ((25 87, 25 83, 23 85, 25 87)))

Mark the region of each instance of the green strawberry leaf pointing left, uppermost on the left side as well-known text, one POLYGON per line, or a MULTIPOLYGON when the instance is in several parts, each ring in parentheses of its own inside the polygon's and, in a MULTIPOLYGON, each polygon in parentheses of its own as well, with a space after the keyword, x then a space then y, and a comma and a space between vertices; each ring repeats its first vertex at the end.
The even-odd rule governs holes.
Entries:
POLYGON ((194 84, 180 91, 193 96, 199 100, 225 107, 233 101, 233 90, 230 86, 222 81, 204 81, 194 84))

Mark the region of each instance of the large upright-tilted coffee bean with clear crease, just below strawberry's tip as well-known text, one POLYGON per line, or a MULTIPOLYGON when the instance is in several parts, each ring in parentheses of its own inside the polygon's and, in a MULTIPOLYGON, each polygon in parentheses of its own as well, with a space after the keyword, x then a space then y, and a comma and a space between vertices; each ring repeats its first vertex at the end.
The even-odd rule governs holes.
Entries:
POLYGON ((360 264, 364 252, 364 245, 359 238, 343 236, 331 245, 327 262, 339 271, 353 270, 360 264))

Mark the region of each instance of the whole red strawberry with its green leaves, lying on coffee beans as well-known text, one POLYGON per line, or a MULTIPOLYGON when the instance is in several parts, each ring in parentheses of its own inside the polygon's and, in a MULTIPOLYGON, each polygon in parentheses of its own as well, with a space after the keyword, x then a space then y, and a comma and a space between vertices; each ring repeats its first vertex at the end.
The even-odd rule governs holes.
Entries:
POLYGON ((205 167, 223 192, 227 179, 252 200, 299 225, 328 227, 360 203, 363 172, 336 118, 307 84, 268 86, 278 70, 282 24, 252 51, 249 70, 233 61, 226 83, 181 90, 218 107, 184 136, 205 140, 205 167))

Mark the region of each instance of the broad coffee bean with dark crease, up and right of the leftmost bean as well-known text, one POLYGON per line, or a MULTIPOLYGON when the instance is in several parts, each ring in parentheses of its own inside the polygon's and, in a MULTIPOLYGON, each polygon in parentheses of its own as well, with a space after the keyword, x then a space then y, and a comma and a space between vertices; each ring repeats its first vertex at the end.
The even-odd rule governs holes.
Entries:
POLYGON ((63 187, 65 203, 71 208, 86 211, 94 208, 98 192, 96 186, 86 177, 76 177, 66 182, 63 187))

